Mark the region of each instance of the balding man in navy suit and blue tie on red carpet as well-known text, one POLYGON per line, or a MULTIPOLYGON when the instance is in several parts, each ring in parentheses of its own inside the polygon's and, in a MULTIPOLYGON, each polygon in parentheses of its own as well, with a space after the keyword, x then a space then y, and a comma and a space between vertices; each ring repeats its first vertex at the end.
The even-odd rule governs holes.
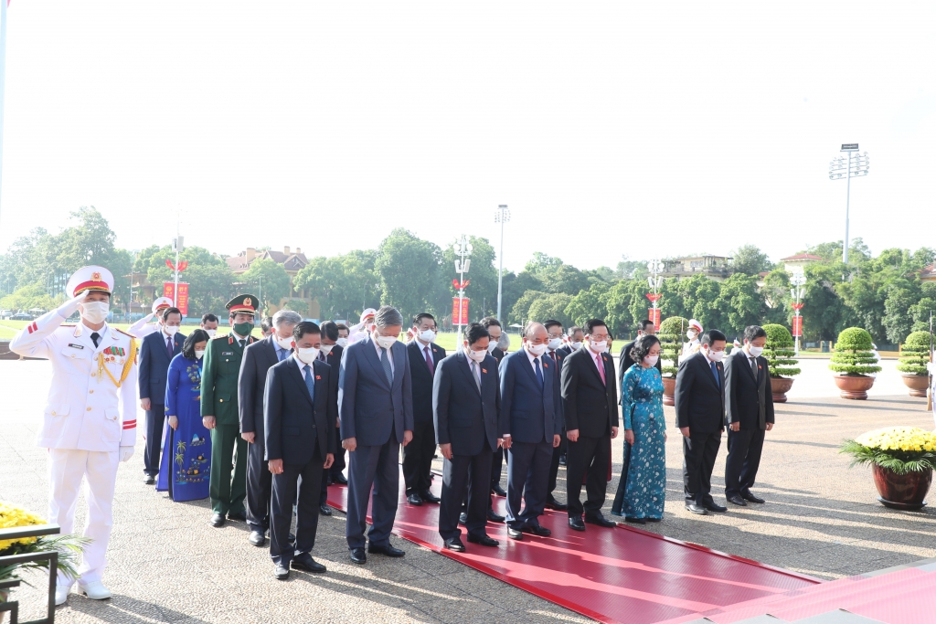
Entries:
POLYGON ((539 524, 548 493, 552 449, 559 446, 562 430, 556 412, 559 386, 553 376, 555 360, 546 355, 546 327, 531 323, 523 335, 523 348, 501 361, 501 410, 507 455, 507 535, 523 533, 546 537, 552 533, 539 524), (520 501, 525 501, 520 511, 520 501))

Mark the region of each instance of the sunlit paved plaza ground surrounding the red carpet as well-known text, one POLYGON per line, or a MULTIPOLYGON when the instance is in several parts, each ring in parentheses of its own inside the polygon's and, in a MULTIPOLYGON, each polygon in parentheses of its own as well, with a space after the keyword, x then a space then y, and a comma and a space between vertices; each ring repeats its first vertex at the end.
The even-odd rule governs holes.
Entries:
MULTIPOLYGON (((753 488, 768 500, 766 505, 730 506, 723 515, 686 512, 680 436, 670 428, 665 520, 647 527, 823 579, 936 557, 934 513, 885 509, 875 501, 870 471, 849 469, 848 459, 837 453, 842 439, 871 428, 933 428, 925 399, 907 396, 892 361, 885 361, 869 400, 838 399, 826 364, 802 362, 804 373, 791 401, 777 406, 777 426, 768 432, 761 481, 753 488)), ((48 505, 46 452, 35 445, 35 437, 50 376, 44 361, 0 361, 0 499, 40 514, 48 505)), ((666 408, 666 418, 675 422, 672 408, 666 408)), ((716 500, 723 495, 725 453, 723 443, 714 472, 716 500)), ((614 443, 615 477, 608 485, 606 515, 621 457, 619 439, 614 443)), ((59 608, 57 621, 590 621, 401 538, 393 542, 406 550, 404 559, 373 557, 367 565, 355 566, 347 560, 344 515, 338 513, 321 518, 313 553, 329 572, 294 573, 289 582, 276 581, 267 550, 247 543, 243 524, 212 529, 207 500, 169 501, 143 486, 142 474, 138 434, 137 453, 121 466, 117 478, 110 565, 104 576, 114 597, 95 602, 72 593, 59 608)), ((561 492, 557 494, 564 500, 561 492)), ((83 505, 82 499, 78 526, 83 505)), ((24 602, 23 617, 41 617, 39 589, 25 588, 17 595, 24 602)))

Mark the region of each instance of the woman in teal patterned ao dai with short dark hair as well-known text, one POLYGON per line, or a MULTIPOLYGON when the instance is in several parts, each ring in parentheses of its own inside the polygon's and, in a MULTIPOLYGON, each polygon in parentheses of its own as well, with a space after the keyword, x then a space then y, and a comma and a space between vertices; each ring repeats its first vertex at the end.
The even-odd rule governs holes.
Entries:
POLYGON ((663 415, 663 379, 656 370, 660 341, 641 336, 631 351, 634 366, 624 372, 621 405, 624 416, 626 483, 622 515, 644 524, 663 519, 666 500, 666 422, 663 415))

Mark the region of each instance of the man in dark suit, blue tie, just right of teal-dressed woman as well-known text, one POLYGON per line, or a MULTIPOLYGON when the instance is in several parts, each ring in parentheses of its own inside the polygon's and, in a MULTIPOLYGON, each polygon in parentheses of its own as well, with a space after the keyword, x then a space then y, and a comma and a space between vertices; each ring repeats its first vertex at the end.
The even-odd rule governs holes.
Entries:
POLYGON ((682 485, 693 514, 726 512, 711 498, 711 471, 724 427, 724 334, 709 329, 676 373, 676 426, 682 433, 682 485), (708 511, 707 511, 708 510, 708 511))

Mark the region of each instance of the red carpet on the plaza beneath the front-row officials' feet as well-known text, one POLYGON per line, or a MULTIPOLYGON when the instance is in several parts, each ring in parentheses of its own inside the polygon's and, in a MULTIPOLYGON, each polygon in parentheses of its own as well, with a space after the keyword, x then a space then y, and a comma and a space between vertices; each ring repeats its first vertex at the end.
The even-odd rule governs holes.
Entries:
MULTIPOLYGON (((568 528, 567 515, 557 512, 541 517, 542 525, 552 530, 548 538, 524 535, 515 542, 504 524, 488 523, 488 534, 501 542, 499 548, 468 544, 463 535, 467 551, 453 553, 442 548, 438 505, 407 504, 402 474, 400 488, 397 535, 602 622, 689 621, 700 613, 724 612, 739 602, 818 583, 631 527, 587 525, 580 533, 568 528)), ((439 496, 441 488, 442 479, 436 477, 432 491, 439 496)), ((346 510, 345 492, 344 486, 329 487, 329 505, 346 510)), ((495 497, 494 504, 503 515, 504 499, 495 497)))

